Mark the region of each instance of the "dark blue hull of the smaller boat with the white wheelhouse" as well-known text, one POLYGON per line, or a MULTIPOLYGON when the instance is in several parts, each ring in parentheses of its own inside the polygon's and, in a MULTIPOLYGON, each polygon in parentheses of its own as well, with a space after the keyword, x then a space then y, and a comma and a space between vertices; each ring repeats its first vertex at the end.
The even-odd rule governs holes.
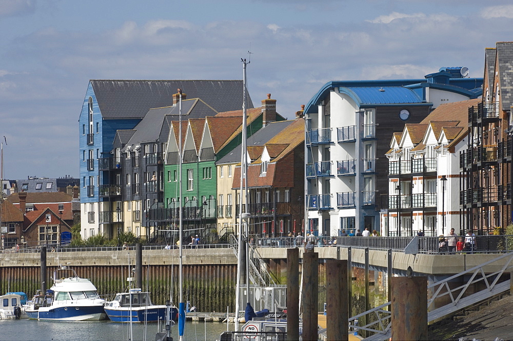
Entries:
MULTIPOLYGON (((166 306, 149 306, 149 307, 138 307, 138 308, 105 308, 107 316, 112 322, 127 323, 130 322, 130 315, 132 323, 144 323, 144 322, 157 322, 159 320, 166 319, 166 306), (130 313, 131 312, 131 313, 130 313)), ((178 310, 172 308, 171 319, 176 319, 178 310)))

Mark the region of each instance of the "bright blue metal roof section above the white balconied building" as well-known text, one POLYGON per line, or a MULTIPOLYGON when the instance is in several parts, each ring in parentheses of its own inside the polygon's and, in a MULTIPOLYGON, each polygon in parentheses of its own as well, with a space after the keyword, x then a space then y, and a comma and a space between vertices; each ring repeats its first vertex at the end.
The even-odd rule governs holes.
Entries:
POLYGON ((422 98, 415 91, 404 87, 344 87, 339 91, 356 94, 359 104, 422 103, 422 98))

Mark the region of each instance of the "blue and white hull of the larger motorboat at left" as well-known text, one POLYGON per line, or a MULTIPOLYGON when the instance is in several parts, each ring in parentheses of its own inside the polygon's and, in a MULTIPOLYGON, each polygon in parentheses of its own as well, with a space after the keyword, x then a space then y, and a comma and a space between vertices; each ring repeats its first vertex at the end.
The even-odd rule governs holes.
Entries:
POLYGON ((107 318, 103 306, 41 307, 25 310, 30 319, 57 321, 96 321, 107 318))

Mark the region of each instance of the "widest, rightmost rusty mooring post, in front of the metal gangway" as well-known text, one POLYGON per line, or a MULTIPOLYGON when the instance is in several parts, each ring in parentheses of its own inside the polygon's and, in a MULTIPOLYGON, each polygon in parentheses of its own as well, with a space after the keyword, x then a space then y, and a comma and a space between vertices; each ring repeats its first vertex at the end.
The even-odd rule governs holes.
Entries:
POLYGON ((392 277, 392 340, 427 340, 427 277, 392 277))

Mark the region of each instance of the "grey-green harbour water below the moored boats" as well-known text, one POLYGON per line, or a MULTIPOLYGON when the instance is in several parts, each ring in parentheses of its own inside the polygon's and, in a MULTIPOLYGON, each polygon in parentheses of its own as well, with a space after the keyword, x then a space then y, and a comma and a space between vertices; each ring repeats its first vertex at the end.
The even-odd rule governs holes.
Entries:
MULTIPOLYGON (((54 322, 23 318, 19 320, 0 320, 0 341, 110 341, 129 340, 128 324, 112 323, 109 320, 90 322, 54 322)), ((229 324, 232 331, 233 324, 229 324)), ((187 322, 185 340, 215 341, 226 331, 226 323, 221 322, 187 322), (205 333, 206 328, 206 333, 205 333), (206 334, 206 336, 205 336, 206 334)), ((132 324, 133 341, 155 339, 157 324, 132 324)), ((171 336, 178 340, 178 327, 173 326, 171 336)))

